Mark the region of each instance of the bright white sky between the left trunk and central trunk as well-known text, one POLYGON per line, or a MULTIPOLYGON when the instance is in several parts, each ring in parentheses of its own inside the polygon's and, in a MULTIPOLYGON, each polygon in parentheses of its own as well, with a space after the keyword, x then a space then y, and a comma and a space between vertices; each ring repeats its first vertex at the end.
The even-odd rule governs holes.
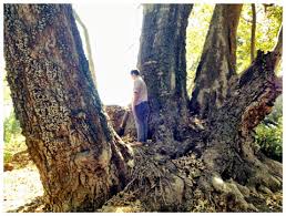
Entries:
MULTIPOLYGON (((140 3, 82 2, 73 3, 73 9, 89 31, 101 101, 106 105, 127 105, 133 84, 130 71, 137 62, 142 7, 140 3)), ((82 29, 78 28, 84 42, 82 29)))

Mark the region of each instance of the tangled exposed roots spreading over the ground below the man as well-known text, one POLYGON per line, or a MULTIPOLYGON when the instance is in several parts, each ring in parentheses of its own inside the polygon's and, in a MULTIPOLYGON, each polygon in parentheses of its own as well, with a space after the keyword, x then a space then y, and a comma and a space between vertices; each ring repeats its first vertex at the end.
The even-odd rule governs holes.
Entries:
MULTIPOLYGON (((247 185, 242 185, 208 171, 198 155, 192 152, 175 160, 166 160, 146 146, 134 148, 134 152, 131 182, 99 212, 282 210, 282 192, 276 189, 274 193, 273 187, 266 184, 257 187, 259 175, 255 174, 256 178, 249 178, 247 185)), ((262 183, 273 184, 266 178, 262 183)))

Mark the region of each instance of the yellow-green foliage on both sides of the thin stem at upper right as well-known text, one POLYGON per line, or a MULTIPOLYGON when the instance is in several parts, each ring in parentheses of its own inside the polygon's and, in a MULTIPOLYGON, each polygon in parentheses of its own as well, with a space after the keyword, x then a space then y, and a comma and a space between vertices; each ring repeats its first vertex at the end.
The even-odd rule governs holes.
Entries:
MULTIPOLYGON (((277 33, 282 24, 283 8, 268 7, 265 11, 263 4, 256 3, 256 50, 270 51, 276 44, 277 33)), ((251 37, 252 37, 252 6, 243 6, 237 29, 237 64, 236 71, 241 73, 251 64, 251 37)), ((256 53, 255 53, 256 54, 256 53)), ((279 68, 277 71, 280 71, 279 68)))

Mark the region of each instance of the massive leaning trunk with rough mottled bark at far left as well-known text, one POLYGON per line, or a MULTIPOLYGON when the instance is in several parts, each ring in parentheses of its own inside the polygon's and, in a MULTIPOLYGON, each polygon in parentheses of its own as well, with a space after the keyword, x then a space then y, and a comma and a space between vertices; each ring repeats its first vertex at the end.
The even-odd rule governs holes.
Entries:
POLYGON ((53 212, 94 210, 124 187, 129 148, 110 127, 69 4, 4 4, 17 117, 53 212))

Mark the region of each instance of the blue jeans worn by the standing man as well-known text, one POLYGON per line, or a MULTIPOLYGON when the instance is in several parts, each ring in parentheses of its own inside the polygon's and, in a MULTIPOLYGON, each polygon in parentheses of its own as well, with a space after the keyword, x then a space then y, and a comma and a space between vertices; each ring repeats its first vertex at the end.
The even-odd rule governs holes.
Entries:
POLYGON ((150 114, 150 107, 147 101, 144 101, 134 107, 134 120, 137 131, 137 141, 147 141, 147 120, 150 114))

